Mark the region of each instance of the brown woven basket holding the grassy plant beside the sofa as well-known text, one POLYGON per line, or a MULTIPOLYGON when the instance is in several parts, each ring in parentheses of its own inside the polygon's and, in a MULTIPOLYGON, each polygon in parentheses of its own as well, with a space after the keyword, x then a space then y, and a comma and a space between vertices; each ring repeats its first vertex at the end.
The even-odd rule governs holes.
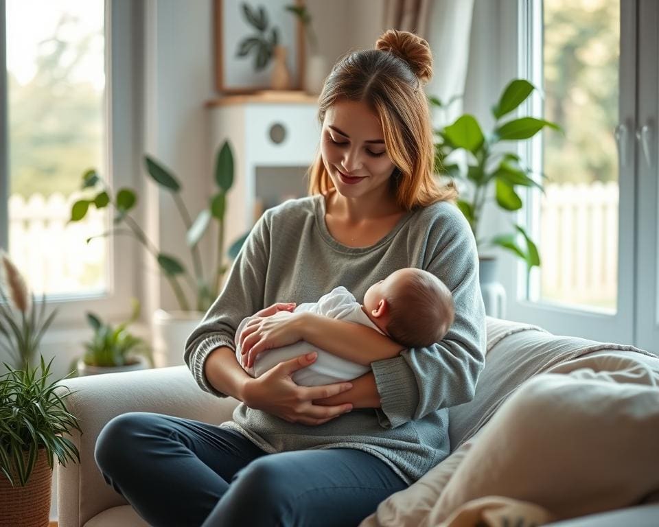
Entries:
POLYGON ((0 527, 48 527, 52 478, 43 448, 25 487, 12 487, 0 473, 0 527))

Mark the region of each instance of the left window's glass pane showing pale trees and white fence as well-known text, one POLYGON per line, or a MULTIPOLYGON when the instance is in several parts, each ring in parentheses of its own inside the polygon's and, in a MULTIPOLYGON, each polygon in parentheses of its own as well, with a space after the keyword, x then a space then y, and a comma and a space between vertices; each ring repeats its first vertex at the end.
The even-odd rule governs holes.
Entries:
POLYGON ((8 0, 9 251, 36 294, 106 288, 106 214, 69 224, 104 160, 104 0, 8 0))

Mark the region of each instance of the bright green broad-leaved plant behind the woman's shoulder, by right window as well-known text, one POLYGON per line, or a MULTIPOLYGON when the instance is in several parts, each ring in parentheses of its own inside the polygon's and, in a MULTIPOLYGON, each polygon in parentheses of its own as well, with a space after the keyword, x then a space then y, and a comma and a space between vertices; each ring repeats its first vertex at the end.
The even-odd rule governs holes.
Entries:
MULTIPOLYGON (((527 269, 540 266, 540 254, 537 246, 527 231, 513 224, 510 233, 496 235, 490 239, 480 237, 483 207, 489 199, 489 188, 494 185, 496 204, 503 211, 511 212, 522 208, 520 188, 537 187, 543 190, 542 174, 533 174, 529 167, 522 164, 520 156, 502 148, 511 141, 530 139, 543 128, 560 130, 551 121, 535 117, 513 117, 504 121, 524 102, 534 90, 533 84, 526 80, 516 79, 510 82, 492 107, 494 126, 489 133, 483 132, 476 117, 470 114, 461 115, 452 124, 436 130, 435 169, 440 174, 456 178, 468 187, 467 198, 458 201, 460 210, 467 218, 479 252, 484 246, 498 246, 522 258, 527 269), (502 144, 503 143, 503 144, 502 144), (466 163, 456 163, 454 152, 462 151, 466 155, 466 163), (520 244, 519 241, 523 240, 520 244)), ((429 97, 430 104, 446 108, 452 101, 443 104, 437 97, 429 97)), ((452 99, 454 100, 454 99, 452 99)))

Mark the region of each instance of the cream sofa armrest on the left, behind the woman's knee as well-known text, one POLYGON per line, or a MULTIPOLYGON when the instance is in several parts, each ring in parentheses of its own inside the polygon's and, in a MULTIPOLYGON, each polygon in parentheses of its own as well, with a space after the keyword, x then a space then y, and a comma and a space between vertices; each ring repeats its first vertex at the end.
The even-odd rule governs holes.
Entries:
MULTIPOLYGON (((113 417, 126 412, 156 412, 219 424, 231 419, 238 401, 220 399, 199 388, 186 366, 126 373, 108 373, 67 379, 75 392, 66 399, 78 418, 82 434, 71 441, 80 451, 80 463, 58 467, 58 524, 80 527, 91 517, 126 500, 103 479, 94 460, 96 438, 113 417)), ((64 388, 58 388, 64 390, 64 388)))

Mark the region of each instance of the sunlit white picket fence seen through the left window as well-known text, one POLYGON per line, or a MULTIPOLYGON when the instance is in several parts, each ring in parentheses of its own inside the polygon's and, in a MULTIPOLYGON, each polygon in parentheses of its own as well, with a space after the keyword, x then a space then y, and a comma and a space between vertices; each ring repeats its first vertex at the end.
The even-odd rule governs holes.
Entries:
POLYGON ((105 285, 106 242, 86 239, 107 230, 106 213, 89 209, 84 220, 67 224, 71 204, 65 198, 33 194, 9 198, 9 251, 37 294, 86 293, 105 285))

